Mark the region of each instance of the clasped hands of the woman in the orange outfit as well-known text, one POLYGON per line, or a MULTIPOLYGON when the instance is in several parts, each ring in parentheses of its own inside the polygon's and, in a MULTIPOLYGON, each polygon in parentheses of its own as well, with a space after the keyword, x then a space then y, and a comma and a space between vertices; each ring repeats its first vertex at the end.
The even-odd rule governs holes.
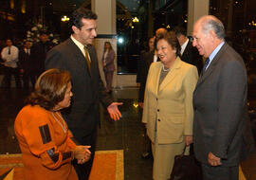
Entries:
POLYGON ((78 160, 78 164, 83 164, 87 162, 91 157, 91 152, 89 148, 91 146, 76 146, 74 150, 74 157, 78 160))

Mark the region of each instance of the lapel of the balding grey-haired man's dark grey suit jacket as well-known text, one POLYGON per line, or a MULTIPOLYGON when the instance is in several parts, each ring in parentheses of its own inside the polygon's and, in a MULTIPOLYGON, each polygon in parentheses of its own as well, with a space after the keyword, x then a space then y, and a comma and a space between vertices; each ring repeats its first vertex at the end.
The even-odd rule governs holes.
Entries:
POLYGON ((219 50, 219 52, 215 55, 215 57, 213 58, 213 60, 211 61, 209 67, 207 68, 206 72, 203 74, 203 76, 200 75, 200 78, 197 82, 196 87, 202 83, 203 81, 205 81, 210 74, 212 73, 212 71, 214 70, 214 68, 216 67, 216 65, 218 64, 220 57, 222 55, 222 53, 226 50, 227 48, 227 43, 225 43, 219 50))

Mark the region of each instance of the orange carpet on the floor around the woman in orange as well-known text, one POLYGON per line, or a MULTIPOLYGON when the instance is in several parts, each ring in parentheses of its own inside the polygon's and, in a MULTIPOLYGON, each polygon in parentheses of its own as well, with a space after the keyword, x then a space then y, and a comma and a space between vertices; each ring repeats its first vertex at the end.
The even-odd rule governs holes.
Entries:
MULTIPOLYGON (((21 154, 0 154, 0 180, 24 180, 21 154)), ((90 180, 123 180, 123 151, 96 152, 90 180)))

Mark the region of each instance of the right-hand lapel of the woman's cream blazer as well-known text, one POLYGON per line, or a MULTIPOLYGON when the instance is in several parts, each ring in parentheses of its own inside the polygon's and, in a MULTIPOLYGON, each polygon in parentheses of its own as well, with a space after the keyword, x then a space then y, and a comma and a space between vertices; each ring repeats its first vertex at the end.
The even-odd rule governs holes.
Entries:
MULTIPOLYGON (((174 62, 174 66, 170 69, 170 71, 168 72, 168 74, 166 75, 165 79, 162 81, 162 83, 160 84, 159 87, 159 92, 161 90, 164 89, 164 87, 170 83, 171 81, 174 80, 174 77, 177 75, 177 69, 180 68, 181 65, 181 60, 177 57, 175 62, 174 62)), ((161 68, 160 68, 160 72, 159 72, 159 77, 160 77, 160 73, 161 73, 161 68)), ((159 79, 159 78, 158 78, 159 79)))

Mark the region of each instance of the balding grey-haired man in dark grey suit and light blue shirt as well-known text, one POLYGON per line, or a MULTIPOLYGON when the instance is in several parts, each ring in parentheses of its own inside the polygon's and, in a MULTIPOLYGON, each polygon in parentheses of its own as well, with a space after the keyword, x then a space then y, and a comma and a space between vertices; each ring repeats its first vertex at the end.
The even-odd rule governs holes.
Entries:
POLYGON ((206 63, 193 93, 193 148, 204 180, 238 180, 247 110, 247 70, 224 40, 222 22, 201 17, 192 45, 206 63))

